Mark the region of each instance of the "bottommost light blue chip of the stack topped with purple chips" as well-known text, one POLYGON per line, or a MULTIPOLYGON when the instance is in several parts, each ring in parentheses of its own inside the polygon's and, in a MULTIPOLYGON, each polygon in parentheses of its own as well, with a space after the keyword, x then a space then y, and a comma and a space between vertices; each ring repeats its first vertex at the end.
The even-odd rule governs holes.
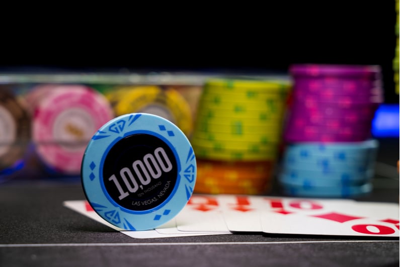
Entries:
POLYGON ((356 198, 372 192, 372 184, 342 187, 311 187, 283 184, 283 193, 292 197, 307 198, 356 198))

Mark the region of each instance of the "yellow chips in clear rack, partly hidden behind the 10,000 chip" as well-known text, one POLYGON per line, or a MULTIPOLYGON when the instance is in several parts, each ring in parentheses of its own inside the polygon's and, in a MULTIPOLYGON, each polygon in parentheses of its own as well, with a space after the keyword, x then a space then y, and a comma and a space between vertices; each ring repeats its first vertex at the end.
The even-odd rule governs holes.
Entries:
POLYGON ((158 85, 118 86, 105 93, 116 116, 147 113, 160 116, 178 126, 189 137, 193 114, 189 103, 174 88, 158 85))

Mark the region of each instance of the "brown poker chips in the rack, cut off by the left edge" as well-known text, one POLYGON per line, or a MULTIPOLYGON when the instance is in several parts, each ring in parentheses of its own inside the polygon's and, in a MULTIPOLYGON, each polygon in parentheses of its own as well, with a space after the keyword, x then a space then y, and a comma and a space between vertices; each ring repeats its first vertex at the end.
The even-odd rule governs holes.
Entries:
POLYGON ((0 90, 0 181, 8 180, 25 165, 31 138, 29 113, 21 100, 7 89, 0 90))

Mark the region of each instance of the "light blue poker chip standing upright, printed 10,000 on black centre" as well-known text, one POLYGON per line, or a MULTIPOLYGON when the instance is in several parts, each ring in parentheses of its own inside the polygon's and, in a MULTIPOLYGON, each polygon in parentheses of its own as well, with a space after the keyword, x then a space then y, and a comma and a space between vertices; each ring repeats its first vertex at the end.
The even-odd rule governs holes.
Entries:
POLYGON ((175 124, 132 113, 94 134, 81 176, 90 205, 103 219, 126 230, 150 230, 185 207, 196 172, 193 148, 175 124))

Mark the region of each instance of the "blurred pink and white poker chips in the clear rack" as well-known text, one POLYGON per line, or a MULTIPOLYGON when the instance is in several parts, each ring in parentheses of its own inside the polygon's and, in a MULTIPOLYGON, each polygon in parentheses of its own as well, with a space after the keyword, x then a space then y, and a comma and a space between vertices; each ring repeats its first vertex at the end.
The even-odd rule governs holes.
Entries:
POLYGON ((26 100, 32 115, 34 150, 47 171, 79 174, 88 142, 114 118, 108 100, 81 84, 37 85, 26 100))

